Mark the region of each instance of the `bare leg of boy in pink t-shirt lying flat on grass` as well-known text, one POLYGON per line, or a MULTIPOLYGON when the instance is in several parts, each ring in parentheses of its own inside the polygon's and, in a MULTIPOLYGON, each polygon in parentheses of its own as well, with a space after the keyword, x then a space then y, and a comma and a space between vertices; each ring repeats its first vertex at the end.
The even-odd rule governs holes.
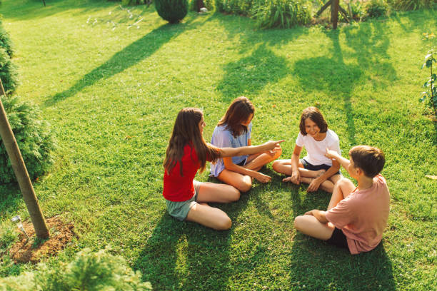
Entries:
POLYGON ((300 215, 294 218, 294 228, 319 240, 331 238, 335 227, 332 223, 321 223, 313 215, 300 215))

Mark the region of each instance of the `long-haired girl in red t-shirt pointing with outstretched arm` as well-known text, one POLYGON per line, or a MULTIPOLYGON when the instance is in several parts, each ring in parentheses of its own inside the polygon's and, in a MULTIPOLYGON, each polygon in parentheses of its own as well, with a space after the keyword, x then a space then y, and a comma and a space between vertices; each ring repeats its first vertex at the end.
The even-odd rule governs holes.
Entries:
POLYGON ((240 198, 231 185, 201 183, 194 180, 197 170, 205 169, 206 160, 234 155, 251 155, 273 150, 283 141, 268 141, 261 146, 216 148, 204 141, 202 133, 206 123, 198 108, 179 111, 164 160, 164 190, 169 214, 179 220, 189 220, 216 230, 231 228, 231 219, 208 202, 228 203, 240 198))

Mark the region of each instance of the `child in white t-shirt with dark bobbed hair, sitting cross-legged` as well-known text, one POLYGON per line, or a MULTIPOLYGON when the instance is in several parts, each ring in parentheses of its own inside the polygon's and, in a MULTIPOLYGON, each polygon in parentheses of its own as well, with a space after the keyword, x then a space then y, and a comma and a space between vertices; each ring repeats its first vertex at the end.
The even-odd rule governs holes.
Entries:
POLYGON ((341 179, 340 164, 326 158, 325 150, 335 150, 341 155, 338 136, 328 129, 325 118, 316 107, 303 110, 299 129, 291 160, 276 160, 273 170, 291 176, 284 178, 283 182, 309 184, 308 192, 321 188, 332 193, 334 185, 341 179), (303 147, 307 155, 299 160, 303 147))

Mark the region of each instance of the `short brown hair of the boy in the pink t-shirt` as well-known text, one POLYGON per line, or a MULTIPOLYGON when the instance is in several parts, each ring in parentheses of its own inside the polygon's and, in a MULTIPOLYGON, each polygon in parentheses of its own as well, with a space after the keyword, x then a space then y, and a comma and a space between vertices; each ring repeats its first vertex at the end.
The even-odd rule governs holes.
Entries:
POLYGON ((349 150, 349 156, 354 165, 370 178, 378 175, 386 163, 383 151, 373 146, 354 146, 349 150))

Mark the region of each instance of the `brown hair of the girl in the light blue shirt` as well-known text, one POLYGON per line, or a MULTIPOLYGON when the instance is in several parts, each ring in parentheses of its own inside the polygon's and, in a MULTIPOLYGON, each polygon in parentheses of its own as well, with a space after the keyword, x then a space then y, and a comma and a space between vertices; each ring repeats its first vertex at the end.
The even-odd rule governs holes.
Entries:
POLYGON ((223 126, 226 124, 226 129, 231 131, 232 136, 236 138, 243 132, 247 132, 247 126, 243 126, 241 123, 247 121, 247 118, 251 114, 255 113, 255 107, 246 97, 236 98, 228 107, 225 115, 218 121, 217 126, 223 126))

